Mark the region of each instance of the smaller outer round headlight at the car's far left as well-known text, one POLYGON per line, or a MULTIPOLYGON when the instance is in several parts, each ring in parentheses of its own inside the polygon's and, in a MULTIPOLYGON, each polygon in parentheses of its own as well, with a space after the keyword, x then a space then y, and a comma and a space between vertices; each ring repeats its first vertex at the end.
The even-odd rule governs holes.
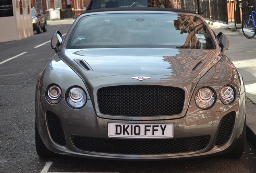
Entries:
POLYGON ((47 89, 46 99, 52 104, 56 104, 61 100, 61 90, 57 85, 53 85, 47 89))

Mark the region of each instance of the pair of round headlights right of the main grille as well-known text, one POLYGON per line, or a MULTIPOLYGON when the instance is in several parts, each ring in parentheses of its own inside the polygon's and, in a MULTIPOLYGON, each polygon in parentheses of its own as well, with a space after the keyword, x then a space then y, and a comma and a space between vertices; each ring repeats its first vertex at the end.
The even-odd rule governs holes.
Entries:
MULTIPOLYGON (((235 90, 233 89, 233 87, 229 85, 224 86, 221 89, 219 95, 220 95, 221 102, 224 103, 225 105, 231 105, 235 100, 235 90)), ((196 92, 196 96, 195 96, 196 105, 200 109, 210 109, 214 105, 216 99, 217 97, 216 97, 215 91, 210 87, 200 88, 196 92)))

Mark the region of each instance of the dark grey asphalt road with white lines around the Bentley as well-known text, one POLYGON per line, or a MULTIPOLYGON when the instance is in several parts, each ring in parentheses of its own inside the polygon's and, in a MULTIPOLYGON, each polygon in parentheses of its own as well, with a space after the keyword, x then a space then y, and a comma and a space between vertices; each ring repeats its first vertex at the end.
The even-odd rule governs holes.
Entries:
MULTIPOLYGON (((35 84, 54 55, 50 39, 72 20, 50 21, 47 32, 0 43, 0 173, 254 173, 256 149, 246 142, 239 159, 211 157, 176 161, 105 161, 73 157, 42 159, 35 150, 35 84)), ((255 108, 252 108, 255 109, 255 108)))

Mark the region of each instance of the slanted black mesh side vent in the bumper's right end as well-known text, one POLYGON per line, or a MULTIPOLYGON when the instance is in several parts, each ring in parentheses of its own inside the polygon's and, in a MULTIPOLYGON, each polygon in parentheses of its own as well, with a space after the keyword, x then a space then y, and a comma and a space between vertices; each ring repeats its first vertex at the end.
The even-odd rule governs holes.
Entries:
POLYGON ((225 115, 225 117, 223 117, 221 121, 221 126, 217 133, 216 146, 220 146, 227 143, 227 141, 231 136, 234 122, 235 122, 235 112, 231 112, 225 115))

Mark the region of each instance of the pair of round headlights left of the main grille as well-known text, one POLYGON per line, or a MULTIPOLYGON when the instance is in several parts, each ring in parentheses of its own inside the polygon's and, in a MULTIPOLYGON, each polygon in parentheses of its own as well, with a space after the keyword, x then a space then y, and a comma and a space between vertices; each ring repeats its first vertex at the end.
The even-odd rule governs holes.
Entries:
MULTIPOLYGON (((46 90, 46 99, 51 104, 57 104, 62 98, 62 91, 58 85, 52 85, 46 90)), ((83 107, 87 101, 87 95, 80 87, 71 87, 66 92, 66 102, 74 109, 83 107)))

